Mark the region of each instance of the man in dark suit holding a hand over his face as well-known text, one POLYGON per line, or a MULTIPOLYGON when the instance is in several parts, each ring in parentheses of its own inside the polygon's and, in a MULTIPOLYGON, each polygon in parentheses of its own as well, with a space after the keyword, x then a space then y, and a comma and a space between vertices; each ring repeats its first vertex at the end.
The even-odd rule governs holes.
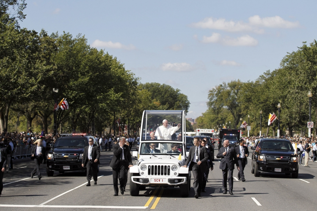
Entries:
POLYGON ((120 193, 123 195, 125 191, 126 182, 126 171, 133 166, 132 158, 129 146, 125 144, 126 138, 120 137, 120 141, 113 145, 113 157, 110 161, 110 167, 112 168, 112 178, 113 178, 113 196, 117 196, 118 189, 118 178, 120 182, 120 193))

